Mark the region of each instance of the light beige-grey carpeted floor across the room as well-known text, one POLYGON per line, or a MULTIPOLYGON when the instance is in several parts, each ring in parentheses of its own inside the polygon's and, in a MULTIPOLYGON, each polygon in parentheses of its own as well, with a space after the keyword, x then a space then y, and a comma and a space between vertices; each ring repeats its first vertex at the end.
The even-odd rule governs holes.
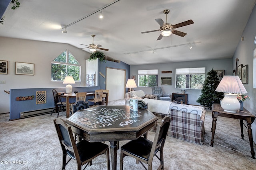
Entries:
MULTIPOLYGON (((109 105, 124 105, 124 100, 109 102, 109 105)), ((59 117, 65 118, 61 112, 59 117)), ((53 119, 56 114, 40 115, 15 121, 9 121, 9 114, 0 115, 0 170, 60 170, 62 150, 56 134, 53 119)), ((204 145, 197 145, 166 138, 164 146, 164 168, 166 170, 252 170, 256 160, 251 158, 250 144, 246 128, 244 139, 240 137, 240 124, 236 119, 218 117, 214 147, 211 140, 212 115, 207 111, 205 117, 204 145), (231 149, 229 149, 231 148, 231 149)), ((154 139, 154 133, 148 133, 148 139, 154 139)), ((127 141, 120 141, 122 146, 127 141)), ((255 145, 254 145, 255 148, 255 145)), ((255 149, 254 149, 255 150, 255 149)), ((117 169, 120 166, 118 150, 117 169)), ((159 161, 154 159, 154 169, 159 161)), ((66 170, 76 169, 72 160, 66 170)), ((106 156, 95 158, 88 170, 106 170, 106 156)), ((142 165, 128 156, 124 158, 124 170, 143 169, 142 165)))

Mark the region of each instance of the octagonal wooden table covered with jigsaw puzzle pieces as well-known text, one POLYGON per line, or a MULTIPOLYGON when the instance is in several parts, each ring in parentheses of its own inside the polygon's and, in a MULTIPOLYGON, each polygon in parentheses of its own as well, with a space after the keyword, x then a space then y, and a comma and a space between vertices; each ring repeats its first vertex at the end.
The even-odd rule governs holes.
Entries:
POLYGON ((72 131, 89 142, 110 141, 112 170, 116 170, 117 142, 135 140, 155 126, 158 118, 147 109, 129 106, 98 106, 79 110, 66 122, 72 131))

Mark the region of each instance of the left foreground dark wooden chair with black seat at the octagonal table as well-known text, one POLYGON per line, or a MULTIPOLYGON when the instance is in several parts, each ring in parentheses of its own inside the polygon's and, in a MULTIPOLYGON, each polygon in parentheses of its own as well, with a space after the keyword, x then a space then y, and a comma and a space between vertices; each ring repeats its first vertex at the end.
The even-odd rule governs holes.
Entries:
POLYGON ((86 140, 82 140, 76 144, 71 127, 63 119, 55 119, 54 125, 63 152, 62 169, 66 168, 66 164, 71 159, 76 160, 77 170, 81 170, 82 166, 87 163, 84 167, 85 169, 89 163, 92 165, 91 161, 94 158, 105 153, 107 156, 108 170, 110 170, 108 145, 101 142, 90 143, 86 140), (66 162, 67 155, 71 157, 68 162, 66 162))

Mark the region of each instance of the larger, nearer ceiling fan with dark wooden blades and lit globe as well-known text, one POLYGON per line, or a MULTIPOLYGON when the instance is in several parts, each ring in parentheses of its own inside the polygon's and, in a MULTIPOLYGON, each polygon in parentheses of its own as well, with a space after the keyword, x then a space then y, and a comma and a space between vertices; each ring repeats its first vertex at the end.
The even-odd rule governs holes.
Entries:
POLYGON ((142 33, 150 33, 150 32, 155 32, 155 31, 162 31, 162 33, 159 35, 157 40, 162 39, 162 37, 167 37, 170 36, 172 33, 175 35, 179 35, 181 37, 184 37, 185 35, 187 35, 187 33, 181 32, 181 31, 177 31, 174 28, 178 28, 178 27, 183 27, 186 25, 190 25, 192 23, 194 23, 192 20, 188 20, 188 21, 184 21, 175 25, 172 25, 170 23, 167 23, 167 14, 170 12, 170 10, 164 10, 164 14, 166 14, 166 23, 164 23, 164 21, 160 18, 160 19, 155 19, 157 23, 159 23, 160 25, 160 29, 156 29, 156 30, 152 30, 152 31, 145 31, 142 33))

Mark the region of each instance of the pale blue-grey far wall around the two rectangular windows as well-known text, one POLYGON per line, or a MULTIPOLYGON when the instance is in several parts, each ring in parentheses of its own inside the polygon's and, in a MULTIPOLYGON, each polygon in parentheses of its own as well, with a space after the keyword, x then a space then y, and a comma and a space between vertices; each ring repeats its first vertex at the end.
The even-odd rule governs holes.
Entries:
MULTIPOLYGON (((196 50, 196 48, 193 48, 196 50)), ((157 57, 157 56, 156 56, 157 57)), ((138 85, 138 70, 158 69, 158 86, 162 87, 164 93, 172 94, 174 92, 181 92, 181 89, 175 88, 175 69, 176 68, 193 68, 193 67, 206 67, 206 72, 209 70, 225 70, 225 75, 232 75, 232 58, 222 60, 205 60, 205 61, 188 61, 177 63, 164 63, 164 64, 148 64, 136 65, 130 67, 130 75, 137 76, 135 80, 138 85), (162 73, 162 71, 172 71, 172 73, 162 73), (172 77, 172 85, 161 85, 161 77, 172 77)), ((206 75, 207 76, 207 75, 206 75)), ((134 90, 144 90, 146 94, 152 94, 150 87, 138 87, 134 90)), ((196 102, 201 94, 201 90, 186 89, 188 93, 188 104, 200 105, 196 102)))

